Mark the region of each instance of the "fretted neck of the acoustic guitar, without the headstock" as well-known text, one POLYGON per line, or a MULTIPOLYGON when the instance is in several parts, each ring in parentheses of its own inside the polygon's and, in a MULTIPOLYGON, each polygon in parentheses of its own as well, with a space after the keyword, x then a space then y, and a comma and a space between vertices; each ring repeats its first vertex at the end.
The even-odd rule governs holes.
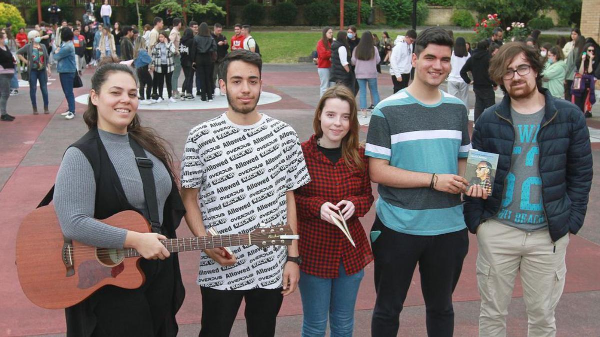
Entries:
MULTIPOLYGON (((169 252, 198 251, 206 248, 250 245, 250 234, 225 234, 201 237, 182 237, 181 239, 161 240, 169 252)), ((140 253, 134 248, 125 248, 125 257, 137 257, 140 253)))

